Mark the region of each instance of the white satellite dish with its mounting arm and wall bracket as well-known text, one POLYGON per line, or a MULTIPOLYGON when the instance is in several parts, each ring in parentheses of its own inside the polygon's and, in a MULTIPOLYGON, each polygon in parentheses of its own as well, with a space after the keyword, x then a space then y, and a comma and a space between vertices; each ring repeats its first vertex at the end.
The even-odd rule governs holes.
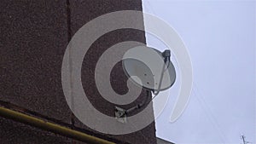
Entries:
MULTIPOLYGON (((156 96, 161 90, 172 87, 175 82, 176 72, 170 57, 170 50, 161 53, 159 50, 147 46, 137 46, 125 52, 122 64, 125 74, 131 78, 132 82, 153 91, 156 96)), ((146 101, 127 110, 115 107, 115 117, 125 123, 126 114, 143 107, 147 103, 146 101)))

